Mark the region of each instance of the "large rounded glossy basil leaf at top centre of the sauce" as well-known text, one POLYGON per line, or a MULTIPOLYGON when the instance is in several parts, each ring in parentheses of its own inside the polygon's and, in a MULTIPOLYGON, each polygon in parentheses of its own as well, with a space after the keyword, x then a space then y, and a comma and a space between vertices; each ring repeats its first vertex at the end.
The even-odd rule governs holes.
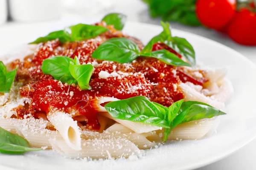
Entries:
POLYGON ((92 57, 96 59, 115 61, 119 63, 132 62, 139 57, 139 47, 127 38, 111 38, 103 42, 93 52, 92 57))

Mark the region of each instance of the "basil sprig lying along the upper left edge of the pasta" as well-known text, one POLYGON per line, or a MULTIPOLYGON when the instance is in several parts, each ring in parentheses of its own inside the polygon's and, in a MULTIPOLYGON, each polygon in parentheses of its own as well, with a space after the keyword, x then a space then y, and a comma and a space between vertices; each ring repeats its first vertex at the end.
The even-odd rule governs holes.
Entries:
POLYGON ((59 39, 62 43, 73 42, 80 40, 87 40, 90 38, 97 37, 98 35, 108 31, 107 28, 102 26, 91 26, 87 24, 77 24, 75 26, 69 26, 64 28, 64 30, 54 31, 49 33, 45 37, 39 37, 29 44, 38 44, 41 42, 47 42, 50 40, 59 39))

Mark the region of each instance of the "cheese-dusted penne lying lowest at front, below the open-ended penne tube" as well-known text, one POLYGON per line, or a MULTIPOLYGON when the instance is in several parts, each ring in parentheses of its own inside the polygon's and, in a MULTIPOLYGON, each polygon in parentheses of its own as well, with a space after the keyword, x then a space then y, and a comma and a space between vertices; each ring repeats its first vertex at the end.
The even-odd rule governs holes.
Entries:
POLYGON ((127 139, 93 139, 82 140, 81 150, 73 150, 64 140, 50 139, 52 148, 67 158, 111 159, 128 158, 131 155, 140 156, 141 150, 127 139))

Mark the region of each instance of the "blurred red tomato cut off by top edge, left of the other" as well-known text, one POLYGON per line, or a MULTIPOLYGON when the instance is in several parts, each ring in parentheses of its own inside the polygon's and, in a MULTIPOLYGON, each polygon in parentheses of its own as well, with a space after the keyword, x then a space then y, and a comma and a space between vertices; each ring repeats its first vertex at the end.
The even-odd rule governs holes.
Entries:
POLYGON ((223 30, 236 13, 236 0, 198 0, 198 20, 209 28, 223 30))

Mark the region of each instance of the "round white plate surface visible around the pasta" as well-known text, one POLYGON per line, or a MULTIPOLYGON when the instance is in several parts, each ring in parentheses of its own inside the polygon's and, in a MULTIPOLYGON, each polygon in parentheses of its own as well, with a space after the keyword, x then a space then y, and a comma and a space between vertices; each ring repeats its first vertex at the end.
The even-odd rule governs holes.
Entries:
MULTIPOLYGON (((13 32, 15 28, 3 28, 6 30, 3 36, 8 37, 9 34, 12 37, 20 37, 16 38, 14 44, 23 43, 44 35, 50 30, 63 28, 64 25, 68 24, 23 25, 19 28, 23 31, 22 35, 13 32), (21 37, 23 38, 21 39, 21 37)), ((124 31, 146 43, 161 30, 160 26, 128 22, 124 31)), ((212 40, 179 30, 172 30, 172 34, 185 37, 191 42, 195 48, 197 60, 205 65, 212 67, 230 66, 228 78, 233 83, 235 94, 224 109, 227 115, 219 117, 221 124, 217 133, 204 140, 164 144, 157 149, 146 151, 146 156, 138 161, 73 160, 62 158, 52 151, 44 150, 27 153, 23 156, 0 155, 0 164, 5 167, 26 170, 191 170, 217 161, 254 139, 256 136, 256 107, 254 102, 256 66, 236 51, 212 40)), ((10 40, 6 38, 6 41, 10 40)), ((10 47, 8 43, 3 41, 0 42, 1 47, 3 47, 3 43, 6 44, 6 48, 10 47)))

